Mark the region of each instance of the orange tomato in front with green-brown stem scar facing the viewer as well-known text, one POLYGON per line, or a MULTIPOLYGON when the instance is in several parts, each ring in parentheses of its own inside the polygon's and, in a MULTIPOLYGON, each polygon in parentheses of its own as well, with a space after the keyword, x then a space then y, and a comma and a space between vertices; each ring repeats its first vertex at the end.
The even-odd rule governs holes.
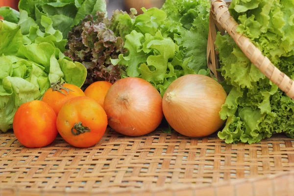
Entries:
POLYGON ((91 147, 103 136, 107 115, 93 98, 76 97, 62 106, 56 126, 61 137, 70 145, 91 147))

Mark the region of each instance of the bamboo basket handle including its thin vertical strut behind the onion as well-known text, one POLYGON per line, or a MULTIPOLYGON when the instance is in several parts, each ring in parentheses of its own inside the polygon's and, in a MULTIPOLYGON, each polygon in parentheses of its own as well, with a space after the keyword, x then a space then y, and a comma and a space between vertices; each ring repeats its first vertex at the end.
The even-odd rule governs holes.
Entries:
POLYGON ((215 51, 214 42, 216 40, 217 29, 223 35, 228 33, 235 41, 237 46, 243 51, 251 63, 265 74, 270 81, 276 84, 287 96, 294 99, 294 82, 285 73, 282 73, 271 62, 270 59, 262 54, 255 47, 249 38, 236 31, 238 23, 230 15, 227 5, 229 2, 223 0, 211 0, 210 25, 207 47, 208 67, 215 77, 220 81, 220 73, 216 71, 219 68, 218 53, 215 51), (217 26, 217 27, 216 27, 217 26))

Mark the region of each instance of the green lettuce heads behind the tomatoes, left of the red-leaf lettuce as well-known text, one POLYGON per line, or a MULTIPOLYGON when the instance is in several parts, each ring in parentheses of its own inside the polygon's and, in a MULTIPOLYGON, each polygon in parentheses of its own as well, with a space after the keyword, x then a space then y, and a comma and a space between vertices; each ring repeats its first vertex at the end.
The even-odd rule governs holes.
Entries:
POLYGON ((40 99, 50 83, 81 87, 87 70, 66 57, 68 31, 89 13, 105 11, 104 0, 20 0, 20 12, 1 7, 0 130, 12 128, 17 108, 40 99))

